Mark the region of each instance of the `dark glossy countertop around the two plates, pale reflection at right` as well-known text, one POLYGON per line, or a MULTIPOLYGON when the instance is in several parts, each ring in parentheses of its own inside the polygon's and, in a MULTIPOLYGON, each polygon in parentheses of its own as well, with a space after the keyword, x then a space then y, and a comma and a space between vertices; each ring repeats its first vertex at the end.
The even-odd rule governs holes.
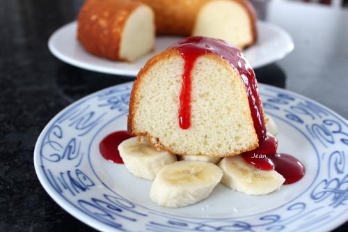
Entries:
MULTIPOLYGON (((0 231, 95 231, 49 197, 33 167, 35 141, 58 111, 130 80, 74 68, 49 53, 49 36, 74 20, 81 3, 1 1, 0 231)), ((306 95, 348 118, 348 10, 299 3, 264 10, 267 20, 290 32, 295 49, 255 70, 259 81, 306 95)), ((348 224, 335 231, 348 231, 348 224)))

